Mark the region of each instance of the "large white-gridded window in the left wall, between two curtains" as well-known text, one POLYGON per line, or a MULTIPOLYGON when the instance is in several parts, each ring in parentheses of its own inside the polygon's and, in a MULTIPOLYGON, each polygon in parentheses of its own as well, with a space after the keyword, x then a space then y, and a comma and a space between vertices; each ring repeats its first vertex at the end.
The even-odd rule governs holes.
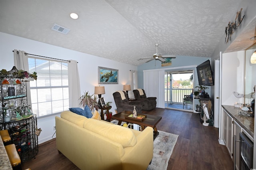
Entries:
POLYGON ((33 113, 43 117, 68 110, 68 63, 29 56, 28 67, 38 76, 30 81, 33 113))

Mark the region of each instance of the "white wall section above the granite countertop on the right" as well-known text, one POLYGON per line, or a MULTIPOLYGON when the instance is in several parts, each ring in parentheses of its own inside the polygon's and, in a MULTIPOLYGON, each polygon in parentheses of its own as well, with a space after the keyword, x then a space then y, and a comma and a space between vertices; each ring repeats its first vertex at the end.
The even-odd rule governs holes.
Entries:
MULTIPOLYGON (((245 51, 222 54, 222 105, 234 105, 237 98, 233 91, 244 94, 245 51)), ((239 99, 244 103, 244 98, 239 99)))

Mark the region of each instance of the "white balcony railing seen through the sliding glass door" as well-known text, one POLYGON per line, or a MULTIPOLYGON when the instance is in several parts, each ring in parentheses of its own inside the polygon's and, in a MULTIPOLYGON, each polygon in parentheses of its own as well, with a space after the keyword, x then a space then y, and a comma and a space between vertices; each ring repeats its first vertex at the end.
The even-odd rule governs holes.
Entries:
POLYGON ((190 95, 193 89, 165 89, 164 96, 166 103, 183 103, 184 95, 190 95))

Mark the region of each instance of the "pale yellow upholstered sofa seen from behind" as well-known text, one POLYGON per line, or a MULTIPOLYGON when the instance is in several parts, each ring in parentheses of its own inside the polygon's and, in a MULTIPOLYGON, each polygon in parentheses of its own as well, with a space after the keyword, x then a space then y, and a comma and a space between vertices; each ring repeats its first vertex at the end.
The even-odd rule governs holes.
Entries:
POLYGON ((153 129, 142 132, 64 111, 56 145, 81 170, 145 170, 153 158, 153 129))

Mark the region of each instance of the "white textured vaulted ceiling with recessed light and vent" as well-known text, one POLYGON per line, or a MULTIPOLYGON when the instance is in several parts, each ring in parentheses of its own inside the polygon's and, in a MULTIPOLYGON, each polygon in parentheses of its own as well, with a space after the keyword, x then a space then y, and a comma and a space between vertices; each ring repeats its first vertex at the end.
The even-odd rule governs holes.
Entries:
POLYGON ((0 0, 0 32, 132 65, 156 53, 155 43, 162 55, 211 57, 240 2, 0 0), (51 30, 54 23, 70 32, 51 30))

